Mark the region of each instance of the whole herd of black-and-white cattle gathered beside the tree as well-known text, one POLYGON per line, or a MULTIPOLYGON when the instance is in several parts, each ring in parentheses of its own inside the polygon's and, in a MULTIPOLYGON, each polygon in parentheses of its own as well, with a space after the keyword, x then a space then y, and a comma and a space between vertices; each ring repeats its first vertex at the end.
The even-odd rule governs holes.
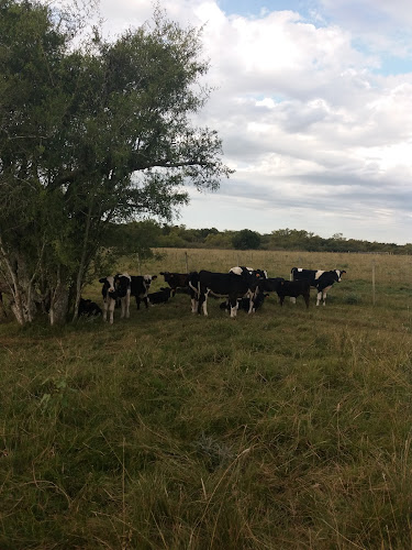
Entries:
POLYGON ((326 294, 334 283, 339 283, 344 270, 302 270, 292 267, 290 280, 282 277, 268 277, 264 270, 252 267, 232 267, 227 273, 213 273, 205 270, 191 273, 160 272, 168 287, 149 293, 151 284, 157 275, 116 274, 99 279, 102 284, 103 309, 89 299, 80 299, 79 317, 102 316, 113 323, 114 309, 121 309, 121 318, 130 317, 130 300, 134 296, 137 309, 142 301, 149 305, 167 302, 177 292, 190 295, 191 310, 194 314, 208 315, 208 297, 225 298, 221 308, 236 317, 238 309, 247 312, 256 311, 270 293, 276 293, 282 306, 288 296, 292 301, 302 296, 309 308, 310 289, 316 288, 316 306, 326 302, 326 294))

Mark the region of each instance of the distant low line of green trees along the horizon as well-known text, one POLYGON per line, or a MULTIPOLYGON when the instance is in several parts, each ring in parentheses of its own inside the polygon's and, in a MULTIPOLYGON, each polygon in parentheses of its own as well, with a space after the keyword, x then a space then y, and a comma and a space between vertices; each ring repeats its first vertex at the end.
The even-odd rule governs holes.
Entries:
POLYGON ((234 249, 234 250, 299 250, 307 252, 364 252, 412 254, 412 243, 404 245, 345 239, 336 233, 329 239, 297 229, 278 229, 260 234, 249 229, 219 231, 215 228, 188 229, 186 226, 159 224, 146 220, 115 226, 113 245, 124 253, 148 253, 156 248, 234 249))

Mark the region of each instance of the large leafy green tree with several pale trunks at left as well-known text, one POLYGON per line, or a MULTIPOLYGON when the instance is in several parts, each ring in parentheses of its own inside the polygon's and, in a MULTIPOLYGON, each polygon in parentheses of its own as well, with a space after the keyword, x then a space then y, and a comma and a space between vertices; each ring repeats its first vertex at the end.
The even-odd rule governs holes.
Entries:
POLYGON ((192 122, 209 97, 201 31, 158 8, 114 42, 85 23, 0 0, 0 275, 20 323, 77 310, 113 222, 170 220, 187 184, 231 173, 192 122))

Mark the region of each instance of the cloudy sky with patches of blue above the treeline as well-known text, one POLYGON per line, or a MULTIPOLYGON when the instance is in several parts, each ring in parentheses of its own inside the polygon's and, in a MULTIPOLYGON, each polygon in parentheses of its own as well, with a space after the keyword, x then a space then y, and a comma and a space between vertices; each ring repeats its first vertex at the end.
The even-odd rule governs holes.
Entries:
MULTIPOLYGON (((197 123, 218 131, 235 173, 190 190, 176 223, 220 231, 299 229, 412 242, 410 0, 162 0, 203 25, 213 87, 197 123)), ((101 0, 115 37, 151 0, 101 0)))

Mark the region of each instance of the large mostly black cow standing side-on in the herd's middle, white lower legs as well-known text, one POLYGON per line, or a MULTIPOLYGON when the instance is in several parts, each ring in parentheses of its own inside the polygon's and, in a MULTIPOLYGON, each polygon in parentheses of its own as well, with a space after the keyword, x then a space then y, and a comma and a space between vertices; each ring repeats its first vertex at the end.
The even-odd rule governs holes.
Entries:
MULTIPOLYGON (((231 307, 231 317, 236 317, 237 299, 244 296, 254 295, 260 275, 257 273, 245 272, 242 275, 234 273, 212 273, 205 270, 199 273, 194 272, 189 279, 189 286, 197 292, 198 297, 198 314, 203 308, 203 315, 208 316, 207 301, 208 296, 229 298, 231 307)), ((250 305, 252 306, 252 305, 250 305)), ((252 307, 249 307, 249 312, 252 307)))

